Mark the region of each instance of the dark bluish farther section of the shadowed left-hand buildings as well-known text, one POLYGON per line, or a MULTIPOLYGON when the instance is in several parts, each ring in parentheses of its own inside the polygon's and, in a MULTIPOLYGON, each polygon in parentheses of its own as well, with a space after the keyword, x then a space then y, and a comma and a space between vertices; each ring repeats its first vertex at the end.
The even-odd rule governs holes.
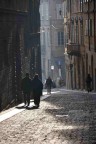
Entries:
POLYGON ((28 14, 28 33, 27 46, 30 50, 30 76, 33 78, 35 73, 41 75, 41 46, 40 46, 40 0, 29 0, 28 14))

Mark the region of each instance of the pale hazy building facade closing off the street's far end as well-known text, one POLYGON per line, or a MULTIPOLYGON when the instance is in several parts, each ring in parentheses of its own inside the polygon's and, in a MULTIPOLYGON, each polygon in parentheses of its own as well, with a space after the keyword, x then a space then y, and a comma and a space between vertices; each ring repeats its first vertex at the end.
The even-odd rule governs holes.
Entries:
POLYGON ((41 0, 42 80, 65 79, 63 0, 41 0))

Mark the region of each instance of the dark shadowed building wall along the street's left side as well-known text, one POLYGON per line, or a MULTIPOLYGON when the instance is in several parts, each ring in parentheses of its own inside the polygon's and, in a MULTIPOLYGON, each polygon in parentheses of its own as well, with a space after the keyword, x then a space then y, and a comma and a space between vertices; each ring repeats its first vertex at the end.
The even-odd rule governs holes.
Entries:
POLYGON ((41 74, 40 36, 33 36, 39 28, 38 0, 0 0, 0 109, 22 101, 21 78, 26 72, 41 74))

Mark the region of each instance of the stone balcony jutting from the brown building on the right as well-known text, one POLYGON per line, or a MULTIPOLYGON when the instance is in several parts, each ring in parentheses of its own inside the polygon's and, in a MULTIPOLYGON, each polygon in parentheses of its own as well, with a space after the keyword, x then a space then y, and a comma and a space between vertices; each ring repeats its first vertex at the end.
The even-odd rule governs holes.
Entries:
POLYGON ((76 43, 67 43, 67 54, 80 56, 80 45, 76 43))

